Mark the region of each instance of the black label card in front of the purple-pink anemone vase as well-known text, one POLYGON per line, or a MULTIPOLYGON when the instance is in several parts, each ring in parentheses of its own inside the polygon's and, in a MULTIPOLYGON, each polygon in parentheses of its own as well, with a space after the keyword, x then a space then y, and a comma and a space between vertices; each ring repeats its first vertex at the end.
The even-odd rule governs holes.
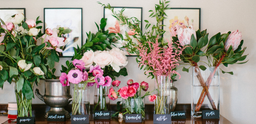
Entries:
POLYGON ((89 124, 90 115, 71 115, 71 124, 89 124))

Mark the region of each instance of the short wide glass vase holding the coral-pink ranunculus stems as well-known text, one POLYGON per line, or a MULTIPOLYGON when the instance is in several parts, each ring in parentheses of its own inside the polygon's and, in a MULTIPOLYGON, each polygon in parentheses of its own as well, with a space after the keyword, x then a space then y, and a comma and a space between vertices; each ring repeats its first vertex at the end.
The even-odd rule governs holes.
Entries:
MULTIPOLYGON (((123 99, 123 114, 141 114, 142 120, 145 119, 145 99, 123 99)), ((123 116, 125 119, 125 116, 123 116)))

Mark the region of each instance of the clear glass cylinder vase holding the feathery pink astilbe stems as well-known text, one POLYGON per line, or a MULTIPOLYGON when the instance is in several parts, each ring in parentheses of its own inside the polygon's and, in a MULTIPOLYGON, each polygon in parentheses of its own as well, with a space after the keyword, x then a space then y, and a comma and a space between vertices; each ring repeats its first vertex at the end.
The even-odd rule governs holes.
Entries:
POLYGON ((155 114, 170 114, 170 79, 168 75, 155 76, 155 114))

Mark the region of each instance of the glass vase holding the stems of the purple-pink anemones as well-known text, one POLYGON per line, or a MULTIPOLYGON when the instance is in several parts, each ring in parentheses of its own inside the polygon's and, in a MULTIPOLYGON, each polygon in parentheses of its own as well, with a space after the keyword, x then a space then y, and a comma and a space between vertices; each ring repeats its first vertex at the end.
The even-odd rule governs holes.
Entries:
POLYGON ((85 84, 74 84, 72 115, 90 115, 90 89, 85 84))

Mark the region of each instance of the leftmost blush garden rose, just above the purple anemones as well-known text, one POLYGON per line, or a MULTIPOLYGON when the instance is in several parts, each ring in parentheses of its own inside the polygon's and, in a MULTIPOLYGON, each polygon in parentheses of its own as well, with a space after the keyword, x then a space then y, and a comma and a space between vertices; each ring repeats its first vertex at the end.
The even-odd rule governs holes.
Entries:
POLYGON ((94 63, 94 51, 93 50, 87 50, 84 53, 84 56, 80 60, 84 61, 85 68, 89 68, 94 63))

